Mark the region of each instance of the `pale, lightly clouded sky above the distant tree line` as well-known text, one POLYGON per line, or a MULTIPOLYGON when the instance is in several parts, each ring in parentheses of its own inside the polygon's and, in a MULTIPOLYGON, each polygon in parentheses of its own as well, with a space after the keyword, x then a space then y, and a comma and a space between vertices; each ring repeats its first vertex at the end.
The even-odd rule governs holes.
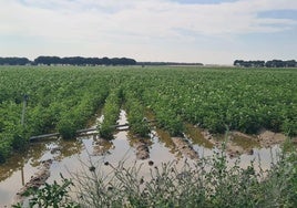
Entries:
POLYGON ((297 60, 296 0, 0 0, 0 56, 297 60))

